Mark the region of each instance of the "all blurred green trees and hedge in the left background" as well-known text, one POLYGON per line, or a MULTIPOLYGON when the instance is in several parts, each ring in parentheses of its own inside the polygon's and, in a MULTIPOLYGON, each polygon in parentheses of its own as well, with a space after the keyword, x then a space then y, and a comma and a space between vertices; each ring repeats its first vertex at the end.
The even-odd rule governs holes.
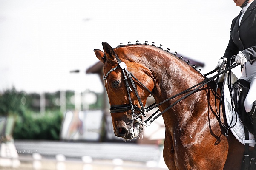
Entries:
MULTIPOLYGON (((74 95, 74 91, 66 91, 66 110, 75 109, 74 95)), ((89 105, 92 110, 103 107, 103 94, 95 95, 97 102, 89 105)), ((16 91, 15 88, 0 92, 0 116, 12 117, 13 122, 16 122, 13 123, 13 132, 10 130, 9 133, 13 134, 14 139, 59 139, 63 119, 63 113, 60 112, 60 91, 45 93, 45 99, 46 113, 40 114, 40 94, 27 94, 16 91)))

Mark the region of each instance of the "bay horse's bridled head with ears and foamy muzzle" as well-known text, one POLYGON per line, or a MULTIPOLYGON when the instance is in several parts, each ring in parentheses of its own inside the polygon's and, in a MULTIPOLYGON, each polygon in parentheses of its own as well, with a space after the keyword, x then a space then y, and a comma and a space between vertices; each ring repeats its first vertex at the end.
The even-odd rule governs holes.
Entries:
POLYGON ((154 87, 151 72, 140 62, 135 62, 136 52, 128 53, 127 48, 113 49, 106 42, 102 42, 102 46, 104 52, 94 51, 104 64, 114 133, 126 140, 134 139, 143 130, 144 106, 154 87))

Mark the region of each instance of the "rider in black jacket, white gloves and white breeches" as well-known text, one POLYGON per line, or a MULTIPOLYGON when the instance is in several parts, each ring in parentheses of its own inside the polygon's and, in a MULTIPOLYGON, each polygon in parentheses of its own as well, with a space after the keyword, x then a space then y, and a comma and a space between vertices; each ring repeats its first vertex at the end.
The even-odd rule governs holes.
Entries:
POLYGON ((232 21, 230 40, 224 56, 219 59, 217 67, 222 62, 230 62, 230 58, 236 55, 234 61, 241 64, 242 76, 250 82, 250 90, 244 101, 245 111, 256 117, 256 0, 234 0, 236 6, 242 8, 240 14, 232 21), (240 51, 240 52, 239 52, 240 51))

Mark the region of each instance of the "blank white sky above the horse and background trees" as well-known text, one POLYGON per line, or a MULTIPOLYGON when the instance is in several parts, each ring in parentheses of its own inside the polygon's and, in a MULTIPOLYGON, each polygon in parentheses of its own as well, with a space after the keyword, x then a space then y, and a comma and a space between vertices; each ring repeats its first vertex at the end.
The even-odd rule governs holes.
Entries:
POLYGON ((100 78, 85 71, 101 42, 155 41, 204 62, 207 73, 240 9, 233 0, 0 0, 0 91, 100 92, 100 78))

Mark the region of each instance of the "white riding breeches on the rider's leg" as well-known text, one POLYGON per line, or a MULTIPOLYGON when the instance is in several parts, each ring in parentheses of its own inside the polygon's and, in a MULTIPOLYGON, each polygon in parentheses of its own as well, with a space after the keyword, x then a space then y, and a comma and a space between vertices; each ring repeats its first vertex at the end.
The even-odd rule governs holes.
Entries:
POLYGON ((256 100, 256 61, 252 65, 250 62, 244 64, 242 76, 239 79, 250 82, 250 90, 244 101, 245 111, 248 113, 252 110, 253 102, 256 100))

